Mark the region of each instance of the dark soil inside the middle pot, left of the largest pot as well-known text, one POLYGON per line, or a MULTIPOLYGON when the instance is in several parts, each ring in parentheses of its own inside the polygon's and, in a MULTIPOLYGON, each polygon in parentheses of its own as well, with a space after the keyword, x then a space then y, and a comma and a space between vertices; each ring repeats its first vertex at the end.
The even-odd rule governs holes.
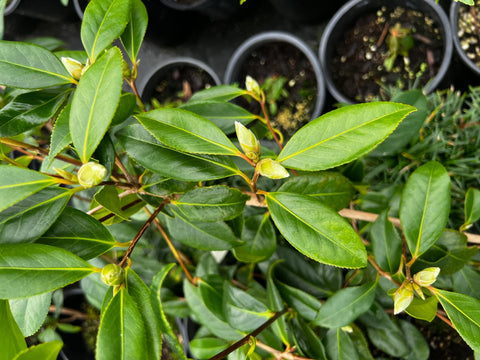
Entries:
MULTIPOLYGON (((256 48, 242 64, 240 85, 247 75, 260 85, 267 78, 286 78, 284 90, 288 95, 277 100, 277 112, 271 114, 272 126, 284 135, 291 136, 311 119, 317 94, 315 73, 307 57, 295 46, 278 42, 256 48)), ((254 102, 248 110, 260 113, 260 107, 254 102)))

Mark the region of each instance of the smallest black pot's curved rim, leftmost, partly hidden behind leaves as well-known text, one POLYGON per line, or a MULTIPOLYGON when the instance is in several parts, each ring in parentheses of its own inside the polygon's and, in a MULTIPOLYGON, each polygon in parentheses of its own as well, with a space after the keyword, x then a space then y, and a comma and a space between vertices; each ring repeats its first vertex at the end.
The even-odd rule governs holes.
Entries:
POLYGON ((155 89, 162 79, 170 79, 169 81, 175 81, 172 79, 172 74, 175 69, 200 69, 205 75, 211 78, 212 83, 210 85, 220 85, 221 81, 218 75, 213 69, 204 62, 189 58, 189 57, 176 57, 165 62, 160 63, 155 67, 146 77, 143 84, 139 85, 140 94, 144 102, 149 102, 154 97, 155 89))

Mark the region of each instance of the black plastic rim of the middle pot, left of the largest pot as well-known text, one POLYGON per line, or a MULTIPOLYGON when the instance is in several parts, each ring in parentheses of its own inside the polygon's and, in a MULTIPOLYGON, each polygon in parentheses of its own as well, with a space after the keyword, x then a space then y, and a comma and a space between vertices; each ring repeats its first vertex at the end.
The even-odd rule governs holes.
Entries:
POLYGON ((245 79, 240 79, 240 72, 243 62, 250 56, 250 54, 264 45, 271 43, 289 44, 300 50, 305 58, 310 62, 317 85, 316 101, 313 106, 311 119, 320 116, 325 103, 325 82, 323 73, 320 68, 315 53, 308 47, 308 45, 300 38, 286 32, 270 31, 257 34, 244 43, 242 43, 231 56, 227 69, 225 71, 224 82, 226 84, 240 83, 243 84, 245 79))

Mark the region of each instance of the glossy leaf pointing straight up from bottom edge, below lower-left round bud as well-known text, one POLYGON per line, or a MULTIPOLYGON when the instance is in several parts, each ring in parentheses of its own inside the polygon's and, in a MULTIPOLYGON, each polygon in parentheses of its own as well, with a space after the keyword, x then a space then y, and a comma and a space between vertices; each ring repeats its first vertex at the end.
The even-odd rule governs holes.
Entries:
POLYGON ((127 290, 122 288, 102 312, 95 358, 135 359, 145 353, 146 345, 142 315, 127 290))

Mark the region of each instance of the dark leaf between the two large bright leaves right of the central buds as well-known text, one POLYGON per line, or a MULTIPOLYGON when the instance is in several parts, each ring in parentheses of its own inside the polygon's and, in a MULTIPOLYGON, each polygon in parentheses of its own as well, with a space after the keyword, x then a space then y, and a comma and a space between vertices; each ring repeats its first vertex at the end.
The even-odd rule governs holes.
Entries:
POLYGON ((289 178, 278 191, 308 195, 335 210, 347 207, 355 195, 350 180, 340 173, 327 171, 289 178))

